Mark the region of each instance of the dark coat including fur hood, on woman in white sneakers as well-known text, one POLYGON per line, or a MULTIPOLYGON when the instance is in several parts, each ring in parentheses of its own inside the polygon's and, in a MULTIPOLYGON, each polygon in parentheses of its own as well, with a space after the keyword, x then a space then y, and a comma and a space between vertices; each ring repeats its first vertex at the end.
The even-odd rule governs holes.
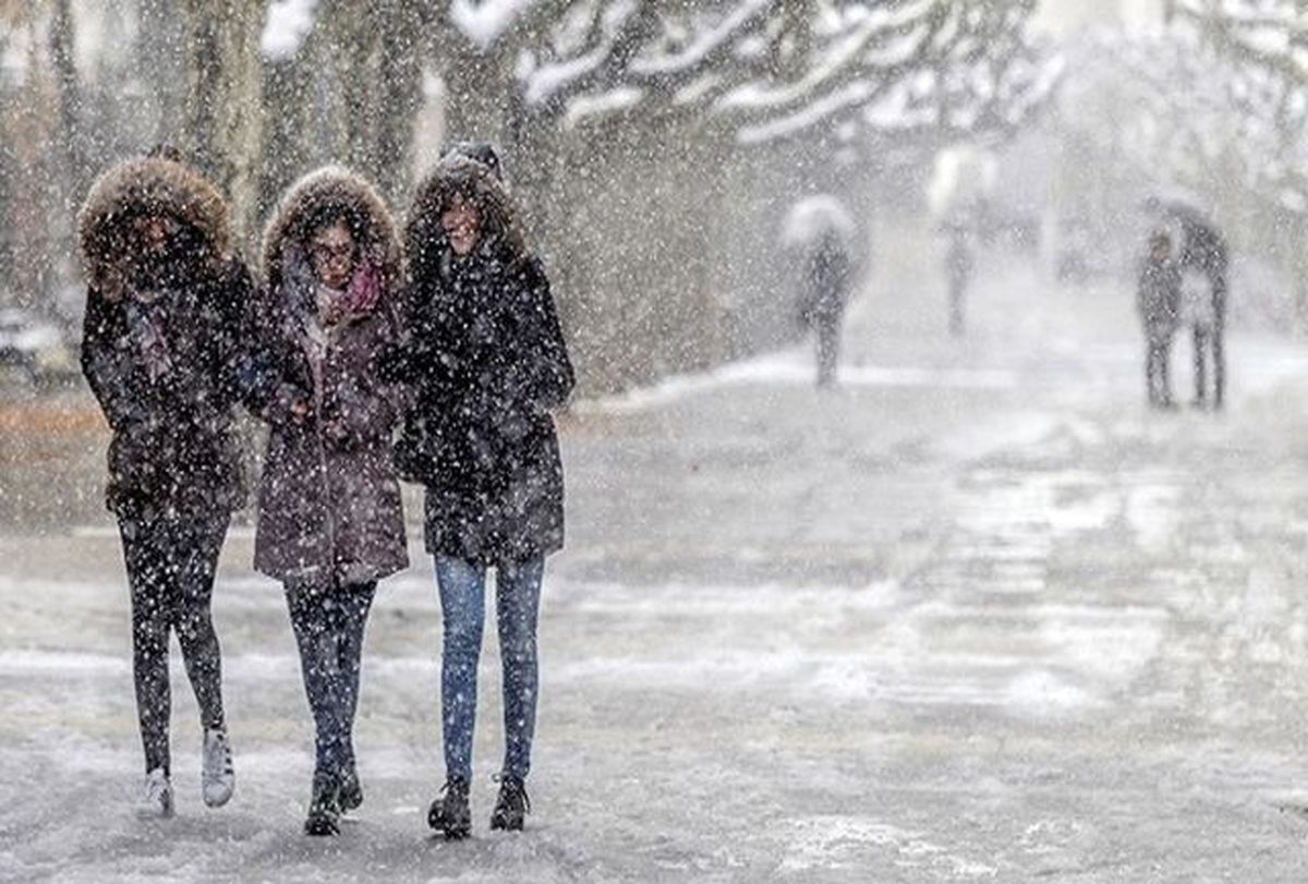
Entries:
POLYGON ((245 501, 233 421, 252 284, 226 211, 192 170, 153 157, 112 169, 81 211, 81 361, 114 432, 106 503, 119 518, 245 501))

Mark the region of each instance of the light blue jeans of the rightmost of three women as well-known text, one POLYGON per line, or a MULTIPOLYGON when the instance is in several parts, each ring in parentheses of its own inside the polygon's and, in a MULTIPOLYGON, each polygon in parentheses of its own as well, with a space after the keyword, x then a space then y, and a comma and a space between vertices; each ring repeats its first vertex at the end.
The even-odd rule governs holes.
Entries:
MULTIPOLYGON (((496 622, 504 667, 504 774, 526 779, 536 730, 540 683, 536 620, 545 560, 496 568, 496 622)), ((445 647, 441 655, 441 719, 446 777, 472 778, 472 728, 477 713, 477 658, 485 624, 487 569, 450 556, 436 557, 445 647)))

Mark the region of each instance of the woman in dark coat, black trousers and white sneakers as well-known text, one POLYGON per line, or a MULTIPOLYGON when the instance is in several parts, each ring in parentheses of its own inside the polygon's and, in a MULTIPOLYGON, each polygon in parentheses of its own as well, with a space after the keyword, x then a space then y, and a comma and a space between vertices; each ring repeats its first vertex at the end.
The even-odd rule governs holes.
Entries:
POLYGON ((188 166, 150 156, 92 187, 77 218, 88 279, 81 365, 112 430, 106 502, 132 602, 143 813, 170 816, 169 633, 200 707, 201 791, 235 785, 209 600, 230 514, 243 502, 233 425, 252 285, 228 207, 188 166))

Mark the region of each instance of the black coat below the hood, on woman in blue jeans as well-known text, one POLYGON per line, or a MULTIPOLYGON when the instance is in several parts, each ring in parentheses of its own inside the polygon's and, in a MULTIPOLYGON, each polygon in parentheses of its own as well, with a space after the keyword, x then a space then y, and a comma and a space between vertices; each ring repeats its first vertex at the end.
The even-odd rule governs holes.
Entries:
POLYGON ((411 292, 394 361, 412 390, 398 462, 426 486, 426 549, 483 565, 545 556, 564 545, 548 409, 574 377, 544 268, 477 252, 433 276, 411 292))

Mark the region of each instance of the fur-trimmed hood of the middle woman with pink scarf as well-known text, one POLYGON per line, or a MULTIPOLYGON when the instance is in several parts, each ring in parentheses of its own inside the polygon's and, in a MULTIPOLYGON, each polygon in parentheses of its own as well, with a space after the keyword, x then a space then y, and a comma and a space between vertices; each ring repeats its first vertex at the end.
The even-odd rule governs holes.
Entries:
POLYGON ((343 166, 309 173, 281 197, 263 231, 262 269, 269 290, 281 285, 284 256, 290 243, 306 243, 323 212, 340 209, 362 255, 381 273, 386 289, 400 281, 400 250, 395 222, 385 200, 368 180, 343 166))

